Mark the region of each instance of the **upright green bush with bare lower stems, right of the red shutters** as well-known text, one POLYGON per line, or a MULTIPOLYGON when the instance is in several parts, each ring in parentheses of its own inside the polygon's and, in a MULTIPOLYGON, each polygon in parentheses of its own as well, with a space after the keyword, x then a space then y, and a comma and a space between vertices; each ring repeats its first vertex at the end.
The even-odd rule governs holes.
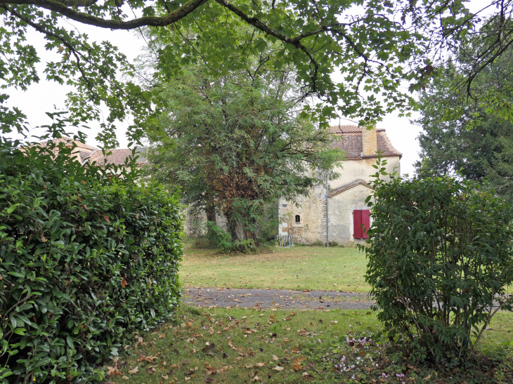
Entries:
POLYGON ((365 280, 378 318, 417 359, 460 364, 493 315, 512 309, 511 207, 453 178, 378 179, 374 188, 365 280))

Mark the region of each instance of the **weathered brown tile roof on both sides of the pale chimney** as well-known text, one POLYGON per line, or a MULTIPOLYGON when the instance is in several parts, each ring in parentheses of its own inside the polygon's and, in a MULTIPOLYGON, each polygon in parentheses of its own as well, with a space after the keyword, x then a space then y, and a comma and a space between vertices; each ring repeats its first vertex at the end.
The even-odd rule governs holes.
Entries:
MULTIPOLYGON (((332 147, 344 150, 346 159, 367 159, 370 157, 377 157, 376 154, 372 156, 362 156, 362 130, 361 126, 344 125, 332 126, 330 128, 332 133, 337 135, 336 140, 333 141, 332 147)), ((385 133, 383 128, 377 129, 377 150, 382 151, 383 157, 398 156, 401 158, 403 154, 396 150, 385 133)))

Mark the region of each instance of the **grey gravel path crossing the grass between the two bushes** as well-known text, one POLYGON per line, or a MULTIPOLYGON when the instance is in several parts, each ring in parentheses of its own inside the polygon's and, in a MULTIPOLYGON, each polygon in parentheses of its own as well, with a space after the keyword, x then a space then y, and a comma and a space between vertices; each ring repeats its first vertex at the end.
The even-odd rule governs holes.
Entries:
POLYGON ((366 293, 333 291, 188 287, 184 296, 186 304, 197 307, 367 310, 374 305, 366 293))

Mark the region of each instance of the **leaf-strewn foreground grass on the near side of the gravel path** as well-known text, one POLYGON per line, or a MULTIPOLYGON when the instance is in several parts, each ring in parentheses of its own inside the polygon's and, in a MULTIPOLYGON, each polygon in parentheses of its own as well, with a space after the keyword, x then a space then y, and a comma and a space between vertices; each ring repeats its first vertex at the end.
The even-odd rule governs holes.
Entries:
POLYGON ((513 315, 501 312, 492 329, 475 366, 431 369, 377 336, 375 312, 182 306, 174 322, 126 345, 108 382, 513 383, 513 315))

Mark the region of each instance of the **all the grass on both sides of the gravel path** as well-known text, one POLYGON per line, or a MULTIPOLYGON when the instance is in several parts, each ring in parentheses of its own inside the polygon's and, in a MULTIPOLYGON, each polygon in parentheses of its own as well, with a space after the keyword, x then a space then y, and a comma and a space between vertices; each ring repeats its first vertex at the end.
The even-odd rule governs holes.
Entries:
MULTIPOLYGON (((368 292, 356 249, 294 246, 223 255, 186 244, 187 286, 368 292)), ((202 308, 136 334, 105 366, 105 384, 426 383, 513 384, 513 314, 499 312, 473 365, 416 364, 401 340, 380 334, 369 310, 202 308)))

